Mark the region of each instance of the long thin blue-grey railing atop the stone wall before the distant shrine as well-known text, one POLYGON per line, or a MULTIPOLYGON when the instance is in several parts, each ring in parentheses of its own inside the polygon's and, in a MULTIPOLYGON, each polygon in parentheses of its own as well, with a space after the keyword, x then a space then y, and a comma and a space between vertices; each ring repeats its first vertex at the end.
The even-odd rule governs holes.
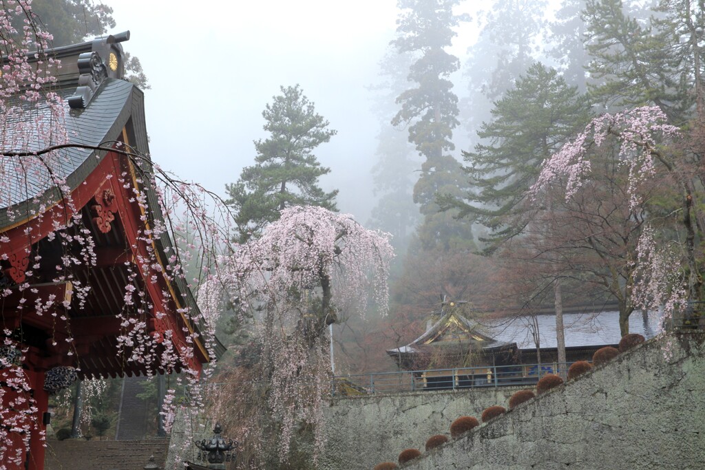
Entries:
POLYGON ((535 385, 539 378, 546 373, 567 372, 571 364, 573 363, 558 364, 553 362, 335 376, 331 381, 331 395, 350 396, 420 390, 467 390, 535 385))

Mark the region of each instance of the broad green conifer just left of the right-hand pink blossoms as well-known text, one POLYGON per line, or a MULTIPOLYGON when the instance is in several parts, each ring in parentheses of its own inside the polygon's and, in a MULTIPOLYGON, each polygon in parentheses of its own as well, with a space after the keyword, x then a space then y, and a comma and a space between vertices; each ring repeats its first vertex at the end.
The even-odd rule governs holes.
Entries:
POLYGON ((477 135, 482 142, 463 152, 477 192, 465 201, 444 197, 441 206, 460 209, 459 216, 478 217, 495 230, 494 242, 519 233, 511 225, 520 202, 541 171, 541 163, 568 141, 589 118, 587 98, 556 70, 534 63, 494 104, 493 120, 477 135))

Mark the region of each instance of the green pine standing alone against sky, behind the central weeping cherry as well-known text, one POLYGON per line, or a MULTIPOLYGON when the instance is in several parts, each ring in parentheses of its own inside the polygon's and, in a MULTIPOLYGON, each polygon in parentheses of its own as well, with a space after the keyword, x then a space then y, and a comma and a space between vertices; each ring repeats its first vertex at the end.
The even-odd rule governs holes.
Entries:
POLYGON ((320 116, 299 85, 281 87, 262 116, 271 136, 255 141, 255 166, 243 169, 237 183, 226 185, 228 204, 238 212, 240 241, 258 235, 290 206, 321 206, 335 211, 338 191, 324 192, 318 178, 330 172, 313 154, 335 130, 320 116))

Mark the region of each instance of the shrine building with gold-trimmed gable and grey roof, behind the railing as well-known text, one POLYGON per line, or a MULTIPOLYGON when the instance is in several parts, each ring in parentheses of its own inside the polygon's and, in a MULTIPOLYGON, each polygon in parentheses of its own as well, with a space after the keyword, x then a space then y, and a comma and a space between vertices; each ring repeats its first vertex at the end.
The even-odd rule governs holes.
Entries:
MULTIPOLYGON (((408 345, 387 350, 399 369, 425 390, 529 385, 575 361, 591 361, 601 347, 621 339, 618 311, 563 313, 567 364, 558 364, 555 314, 485 318, 465 302, 443 302, 426 331, 408 345), (538 343, 538 347, 537 347, 538 343)), ((651 338, 656 328, 640 312, 630 332, 651 338)))

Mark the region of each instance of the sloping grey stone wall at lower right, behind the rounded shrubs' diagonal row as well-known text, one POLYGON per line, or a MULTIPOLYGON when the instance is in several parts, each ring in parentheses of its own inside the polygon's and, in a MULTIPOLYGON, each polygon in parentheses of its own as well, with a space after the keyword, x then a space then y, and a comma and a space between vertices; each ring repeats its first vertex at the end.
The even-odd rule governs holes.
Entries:
POLYGON ((703 469, 704 343, 703 334, 646 342, 403 468, 703 469))

